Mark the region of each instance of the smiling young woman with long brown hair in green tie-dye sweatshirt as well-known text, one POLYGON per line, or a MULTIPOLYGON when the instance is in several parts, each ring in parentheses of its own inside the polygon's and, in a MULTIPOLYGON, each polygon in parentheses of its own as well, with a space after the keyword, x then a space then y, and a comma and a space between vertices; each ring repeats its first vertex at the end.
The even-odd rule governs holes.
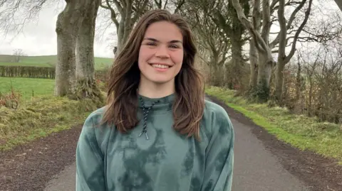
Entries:
POLYGON ((185 20, 149 11, 110 71, 108 102, 85 121, 76 190, 229 191, 234 132, 204 101, 185 20))

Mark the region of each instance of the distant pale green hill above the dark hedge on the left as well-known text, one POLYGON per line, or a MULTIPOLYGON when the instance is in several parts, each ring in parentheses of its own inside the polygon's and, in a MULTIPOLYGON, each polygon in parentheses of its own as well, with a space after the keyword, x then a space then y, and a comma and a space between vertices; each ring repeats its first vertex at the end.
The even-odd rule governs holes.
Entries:
MULTIPOLYGON (((19 62, 15 62, 14 55, 0 55, 0 65, 28 65, 40 67, 53 67, 57 61, 57 55, 22 56, 19 62)), ((112 65, 112 58, 95 57, 95 70, 100 70, 105 66, 112 65)))

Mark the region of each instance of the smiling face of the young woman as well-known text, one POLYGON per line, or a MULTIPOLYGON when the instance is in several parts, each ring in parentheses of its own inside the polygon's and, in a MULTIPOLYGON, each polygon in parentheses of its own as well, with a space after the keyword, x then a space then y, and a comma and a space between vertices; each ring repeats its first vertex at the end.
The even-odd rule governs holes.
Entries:
POLYGON ((174 83, 183 62, 183 36, 175 24, 166 21, 152 23, 140 45, 138 66, 140 82, 174 83))

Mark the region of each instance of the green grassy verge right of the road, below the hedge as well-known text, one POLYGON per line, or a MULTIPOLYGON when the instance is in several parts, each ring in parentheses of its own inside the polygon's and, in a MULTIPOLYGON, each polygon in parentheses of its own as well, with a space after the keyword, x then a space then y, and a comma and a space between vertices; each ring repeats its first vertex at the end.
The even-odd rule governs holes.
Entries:
POLYGON ((342 131, 337 124, 318 122, 316 118, 291 114, 281 107, 252 104, 242 97, 234 97, 234 91, 219 87, 207 87, 206 93, 224 101, 240 111, 255 124, 274 134, 279 140, 301 150, 310 150, 336 158, 342 165, 342 131))

